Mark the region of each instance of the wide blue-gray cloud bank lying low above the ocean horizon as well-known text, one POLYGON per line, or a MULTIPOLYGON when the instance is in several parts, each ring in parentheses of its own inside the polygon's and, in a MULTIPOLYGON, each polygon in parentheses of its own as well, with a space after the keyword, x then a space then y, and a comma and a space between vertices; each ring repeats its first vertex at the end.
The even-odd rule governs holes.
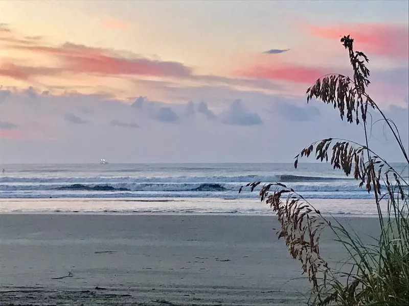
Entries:
MULTIPOLYGON (((187 88, 179 89, 177 95, 169 98, 175 104, 156 101, 151 105, 149 100, 145 104, 144 99, 142 111, 139 111, 127 101, 97 95, 56 96, 50 93, 38 96, 33 104, 33 100, 21 90, 7 89, 11 90, 12 99, 9 97, 10 100, 0 106, 1 120, 17 124, 18 127, 11 131, 21 132, 21 135, 26 135, 26 132, 31 135, 31 131, 36 131, 36 138, 18 138, 14 133, 3 133, 2 161, 5 163, 84 163, 96 162, 96 159, 98 162, 101 152, 112 163, 291 162, 305 145, 322 138, 340 137, 365 142, 360 125, 341 121, 339 113, 330 105, 315 100, 306 105, 305 97, 222 90, 219 87, 213 90, 210 87, 200 90, 187 88), (184 98, 177 98, 181 95, 184 98), (232 104, 237 97, 241 101, 232 104), (206 101, 203 106, 213 111, 214 120, 208 120, 198 112, 198 102, 181 103, 189 100, 206 101), (192 110, 192 106, 196 114, 190 120, 183 120, 186 108, 192 110), (295 110, 293 106, 296 106, 295 110), (85 114, 84 107, 92 112, 85 114), (160 111, 166 107, 170 110, 160 111), (313 109, 309 112, 310 108, 319 111, 313 109), (265 109, 271 114, 266 114, 265 109), (167 120, 176 116, 178 123, 168 123, 168 128, 164 129, 166 123, 157 121, 158 113, 167 120), (294 113, 298 116, 307 113, 310 120, 296 120, 299 117, 293 117, 294 113), (70 119, 64 120, 66 114, 75 114, 80 120, 74 121, 88 120, 89 124, 78 125, 70 119), (60 120, 55 120, 56 116, 60 120), (129 126, 115 127, 131 122, 138 123, 140 130, 129 126), (142 130, 143 133, 138 133, 142 130), (78 147, 82 148, 81 155, 77 154, 78 147), (126 150, 121 149, 124 147, 126 150), (21 151, 30 151, 30 155, 21 155, 21 151)), ((383 104, 382 108, 400 128, 402 142, 406 145, 409 144, 408 105, 406 91, 402 107, 388 108, 383 104)), ((374 116, 373 121, 377 119, 379 116, 374 116)), ((0 126, 13 128, 4 122, 0 126)), ((389 133, 383 137, 382 122, 375 124, 372 135, 371 148, 378 155, 391 162, 402 161, 393 145, 393 135, 389 133), (385 145, 385 142, 391 145, 385 145)))

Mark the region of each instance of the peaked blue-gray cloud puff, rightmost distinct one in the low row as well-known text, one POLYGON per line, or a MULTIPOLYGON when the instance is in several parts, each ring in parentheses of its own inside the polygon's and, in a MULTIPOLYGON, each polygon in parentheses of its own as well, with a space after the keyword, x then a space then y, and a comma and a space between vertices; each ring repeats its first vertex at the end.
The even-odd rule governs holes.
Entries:
POLYGON ((235 100, 230 108, 221 113, 221 120, 226 124, 233 125, 259 125, 262 123, 260 116, 249 112, 242 104, 241 100, 235 100))

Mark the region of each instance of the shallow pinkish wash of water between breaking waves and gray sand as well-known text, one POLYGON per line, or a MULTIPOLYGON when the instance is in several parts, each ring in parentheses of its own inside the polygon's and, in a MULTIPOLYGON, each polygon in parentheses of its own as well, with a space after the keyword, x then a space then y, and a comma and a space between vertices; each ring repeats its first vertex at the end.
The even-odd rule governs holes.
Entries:
MULTIPOLYGON (((275 215, 264 202, 248 198, 9 198, 0 202, 0 214, 275 215)), ((312 199, 310 202, 325 216, 377 217, 376 207, 369 200, 312 199)))

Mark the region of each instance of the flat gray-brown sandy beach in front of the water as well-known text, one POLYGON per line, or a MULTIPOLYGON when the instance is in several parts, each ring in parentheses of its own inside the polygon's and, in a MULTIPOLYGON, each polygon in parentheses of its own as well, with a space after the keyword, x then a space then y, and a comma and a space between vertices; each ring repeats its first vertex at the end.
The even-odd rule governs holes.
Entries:
MULTIPOLYGON (((3 214, 0 304, 303 304, 308 283, 293 279, 300 264, 276 227, 272 216, 3 214)), ((332 238, 322 253, 345 258, 332 238)))

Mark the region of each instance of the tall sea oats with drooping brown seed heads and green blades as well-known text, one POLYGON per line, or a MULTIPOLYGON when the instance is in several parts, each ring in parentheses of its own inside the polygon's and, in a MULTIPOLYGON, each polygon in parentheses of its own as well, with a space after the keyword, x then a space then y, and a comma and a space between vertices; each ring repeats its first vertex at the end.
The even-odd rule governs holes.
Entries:
MULTIPOLYGON (((409 185, 385 159, 379 157, 368 142, 368 109, 378 112, 394 136, 397 148, 409 165, 407 152, 394 122, 367 94, 370 71, 368 57, 354 51, 353 39, 341 39, 347 49, 353 78, 342 74, 324 75, 307 90, 311 98, 330 104, 341 119, 361 123, 365 144, 339 138, 311 143, 295 157, 313 154, 316 160, 330 162, 334 169, 353 175, 359 187, 374 194, 380 226, 372 245, 364 244, 359 235, 347 230, 334 217, 326 217, 297 191, 282 183, 262 186, 260 199, 276 212, 283 238, 291 256, 300 261, 302 273, 312 284, 309 302, 315 305, 409 305, 409 185), (287 195, 287 196, 285 196, 287 195), (387 207, 382 215, 381 206, 387 207), (348 271, 331 266, 320 253, 320 235, 328 228, 349 254, 348 271)), ((253 191, 261 182, 249 183, 253 191)), ((239 192, 241 191, 241 188, 239 192)))

